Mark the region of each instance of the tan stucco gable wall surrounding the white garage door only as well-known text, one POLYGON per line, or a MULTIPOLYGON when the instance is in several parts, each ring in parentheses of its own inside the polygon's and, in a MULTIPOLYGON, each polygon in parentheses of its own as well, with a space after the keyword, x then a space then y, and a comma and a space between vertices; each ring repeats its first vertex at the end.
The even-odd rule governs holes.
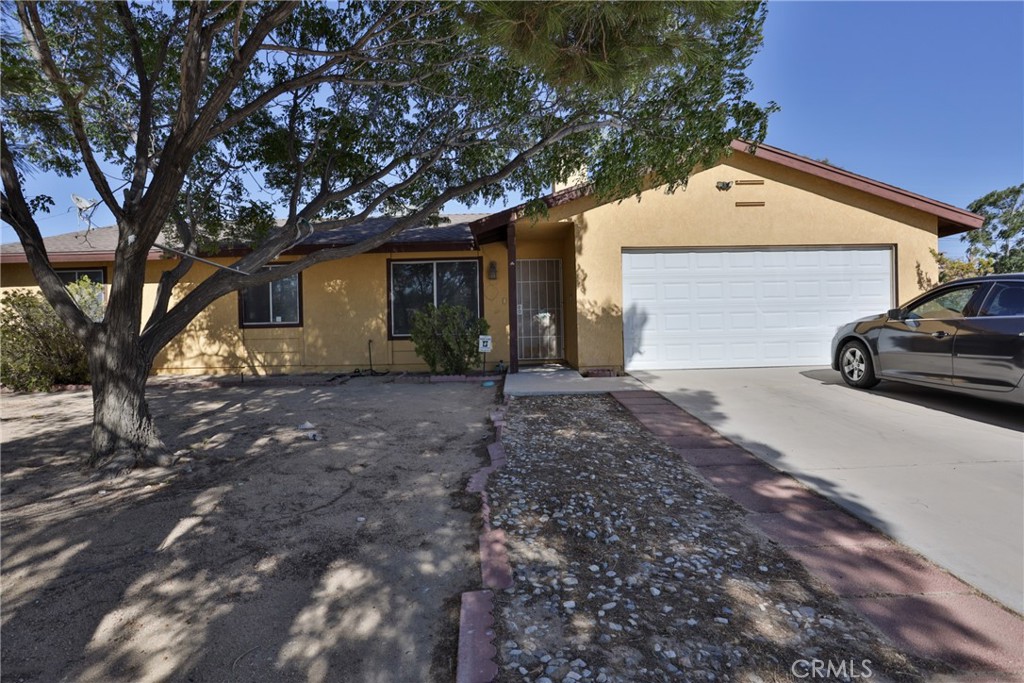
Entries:
POLYGON ((584 371, 623 367, 624 249, 893 246, 900 302, 920 293, 919 267, 937 275, 929 252, 938 245, 935 216, 746 155, 694 174, 673 195, 658 188, 639 202, 585 202, 549 216, 575 221, 575 261, 565 271, 575 270, 577 340, 566 348, 577 349, 573 365, 584 371), (763 184, 716 187, 736 180, 763 184))

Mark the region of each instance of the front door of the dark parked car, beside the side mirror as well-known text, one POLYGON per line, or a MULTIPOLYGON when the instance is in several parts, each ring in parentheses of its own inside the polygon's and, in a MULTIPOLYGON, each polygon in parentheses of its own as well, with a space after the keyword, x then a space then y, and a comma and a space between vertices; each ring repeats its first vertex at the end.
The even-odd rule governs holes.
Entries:
POLYGON ((890 318, 879 332, 879 375, 890 379, 950 384, 953 340, 974 310, 980 284, 944 288, 890 318))

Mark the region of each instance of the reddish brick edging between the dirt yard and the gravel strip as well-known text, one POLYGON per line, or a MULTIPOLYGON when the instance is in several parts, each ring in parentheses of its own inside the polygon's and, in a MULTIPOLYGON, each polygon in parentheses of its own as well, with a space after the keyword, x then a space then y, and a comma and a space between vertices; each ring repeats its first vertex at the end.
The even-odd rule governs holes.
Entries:
POLYGON ((502 432, 505 428, 505 410, 502 405, 490 414, 495 426, 495 441, 487 444, 490 464, 472 474, 466 484, 470 494, 480 495, 480 574, 484 590, 462 594, 459 611, 459 654, 456 683, 490 683, 498 676, 495 656, 498 648, 493 639, 495 623, 494 590, 512 587, 512 566, 505 548, 505 531, 490 526, 490 505, 487 501, 487 477, 505 466, 505 447, 502 432))

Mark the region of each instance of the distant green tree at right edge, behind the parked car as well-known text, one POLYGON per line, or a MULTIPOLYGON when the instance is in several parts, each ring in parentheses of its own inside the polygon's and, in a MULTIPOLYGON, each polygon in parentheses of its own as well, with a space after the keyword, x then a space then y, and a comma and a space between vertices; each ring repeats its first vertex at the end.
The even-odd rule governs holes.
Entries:
POLYGON ((968 258, 990 262, 989 272, 1024 272, 1024 184, 991 191, 968 205, 985 217, 980 229, 965 232, 968 258))

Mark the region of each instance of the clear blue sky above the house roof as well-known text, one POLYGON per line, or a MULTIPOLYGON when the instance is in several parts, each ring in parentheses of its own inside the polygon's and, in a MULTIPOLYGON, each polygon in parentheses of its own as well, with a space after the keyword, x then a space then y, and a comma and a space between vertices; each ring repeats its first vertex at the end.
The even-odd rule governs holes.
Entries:
MULTIPOLYGON (((958 207, 1024 182, 1024 2, 771 2, 749 73, 782 108, 769 144, 958 207)), ((91 185, 33 180, 56 201, 44 234, 77 229, 91 185)))

